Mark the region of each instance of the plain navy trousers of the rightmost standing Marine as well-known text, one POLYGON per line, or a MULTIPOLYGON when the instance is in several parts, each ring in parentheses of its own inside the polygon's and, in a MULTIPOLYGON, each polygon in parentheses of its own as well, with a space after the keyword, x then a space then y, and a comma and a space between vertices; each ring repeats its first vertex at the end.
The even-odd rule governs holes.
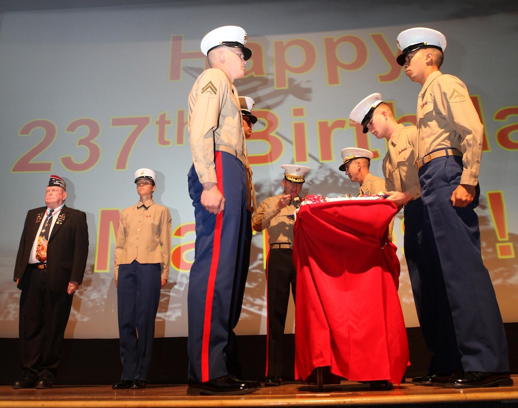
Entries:
MULTIPOLYGON (((453 207, 450 197, 461 181, 462 158, 440 157, 419 171, 423 200, 423 244, 437 260, 431 285, 422 295, 442 322, 436 338, 439 372, 460 360, 464 371, 509 371, 506 333, 490 275, 480 250, 480 194, 465 208, 453 207), (449 359, 453 358, 453 361, 449 359)), ((424 303, 426 301, 426 304, 424 303)), ((422 323, 422 325, 425 322, 422 323)))

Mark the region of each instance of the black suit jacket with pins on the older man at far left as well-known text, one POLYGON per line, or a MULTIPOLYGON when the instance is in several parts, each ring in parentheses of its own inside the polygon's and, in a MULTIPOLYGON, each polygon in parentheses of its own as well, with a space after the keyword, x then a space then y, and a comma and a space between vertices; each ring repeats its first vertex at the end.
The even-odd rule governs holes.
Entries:
MULTIPOLYGON (((47 207, 40 207, 29 210, 25 218, 15 265, 15 281, 20 279, 18 282, 20 289, 36 233, 46 209, 47 207)), ((47 247, 49 287, 56 292, 66 292, 70 281, 81 284, 87 258, 87 214, 63 206, 60 214, 57 215, 47 247)))

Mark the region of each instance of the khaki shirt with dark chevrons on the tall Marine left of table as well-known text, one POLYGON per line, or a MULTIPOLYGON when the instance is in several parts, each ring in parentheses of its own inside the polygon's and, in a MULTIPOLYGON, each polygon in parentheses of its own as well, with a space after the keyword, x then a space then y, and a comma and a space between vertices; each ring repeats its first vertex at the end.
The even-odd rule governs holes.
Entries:
POLYGON ((237 90, 218 68, 200 74, 189 94, 189 144, 200 183, 217 183, 214 144, 246 153, 243 119, 237 90))

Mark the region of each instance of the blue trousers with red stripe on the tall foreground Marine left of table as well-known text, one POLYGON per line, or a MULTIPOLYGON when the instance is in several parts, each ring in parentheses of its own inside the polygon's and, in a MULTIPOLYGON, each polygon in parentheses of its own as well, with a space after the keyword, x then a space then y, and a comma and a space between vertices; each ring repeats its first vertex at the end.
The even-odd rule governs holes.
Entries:
POLYGON ((215 152, 218 188, 225 210, 209 213, 200 202, 203 185, 191 167, 189 194, 196 222, 195 257, 189 273, 189 378, 206 382, 229 373, 227 346, 233 320, 241 308, 236 294, 242 279, 246 221, 243 164, 226 152, 215 152))

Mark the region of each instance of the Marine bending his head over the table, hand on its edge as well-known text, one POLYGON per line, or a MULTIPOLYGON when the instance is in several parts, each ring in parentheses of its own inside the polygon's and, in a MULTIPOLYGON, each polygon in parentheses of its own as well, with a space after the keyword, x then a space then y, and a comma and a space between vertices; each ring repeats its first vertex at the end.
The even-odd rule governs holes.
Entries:
MULTIPOLYGON (((361 123, 364 133, 371 132, 378 139, 387 140, 387 153, 383 158, 382 169, 385 176, 387 199, 404 207, 404 248, 408 273, 414 294, 415 309, 421 325, 423 338, 430 351, 435 351, 436 333, 430 330, 426 322, 434 321, 435 310, 428 307, 429 301, 423 301, 422 286, 427 285, 429 276, 434 273, 435 259, 428 256, 422 242, 423 202, 418 170, 415 168, 414 146, 417 144, 417 128, 397 123, 389 105, 384 103, 381 94, 367 96, 351 111, 349 120, 361 123)), ((438 322, 440 323, 440 322, 438 322)), ((435 357, 430 361, 428 372, 435 373, 435 357)), ((414 382, 431 385, 431 375, 415 377, 414 382), (423 378, 425 377, 425 378, 423 378)))

